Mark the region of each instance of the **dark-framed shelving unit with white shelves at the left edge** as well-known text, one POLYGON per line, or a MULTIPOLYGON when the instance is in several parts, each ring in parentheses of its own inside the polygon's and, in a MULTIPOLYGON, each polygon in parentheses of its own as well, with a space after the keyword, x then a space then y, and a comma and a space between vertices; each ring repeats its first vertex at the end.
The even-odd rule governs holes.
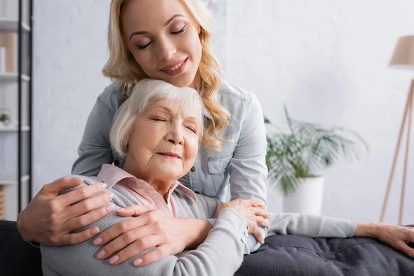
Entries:
POLYGON ((32 197, 32 8, 33 0, 0 0, 9 62, 0 72, 0 108, 10 110, 10 122, 0 122, 0 219, 17 219, 32 197))

